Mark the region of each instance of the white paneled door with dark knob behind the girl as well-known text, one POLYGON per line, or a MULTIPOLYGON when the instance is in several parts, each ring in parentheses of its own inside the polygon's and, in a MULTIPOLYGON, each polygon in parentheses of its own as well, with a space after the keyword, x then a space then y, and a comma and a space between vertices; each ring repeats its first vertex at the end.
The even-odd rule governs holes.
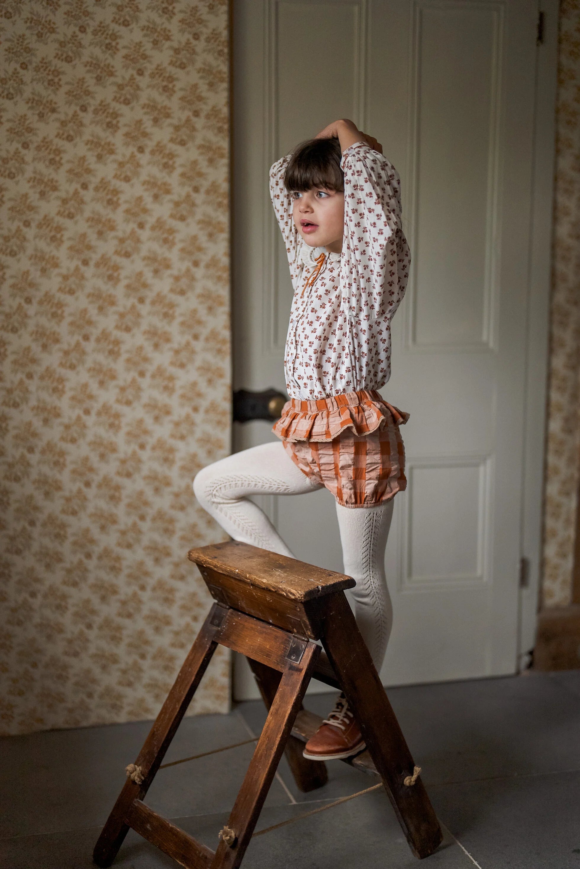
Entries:
MULTIPOLYGON (((402 180, 412 275, 382 392, 411 419, 387 685, 517 667, 536 38, 531 0, 234 3, 236 388, 284 388, 292 287, 269 165, 351 117, 402 180)), ((235 436, 273 439, 258 421, 235 436)), ((330 494, 262 504, 298 557, 342 569, 330 494)))

